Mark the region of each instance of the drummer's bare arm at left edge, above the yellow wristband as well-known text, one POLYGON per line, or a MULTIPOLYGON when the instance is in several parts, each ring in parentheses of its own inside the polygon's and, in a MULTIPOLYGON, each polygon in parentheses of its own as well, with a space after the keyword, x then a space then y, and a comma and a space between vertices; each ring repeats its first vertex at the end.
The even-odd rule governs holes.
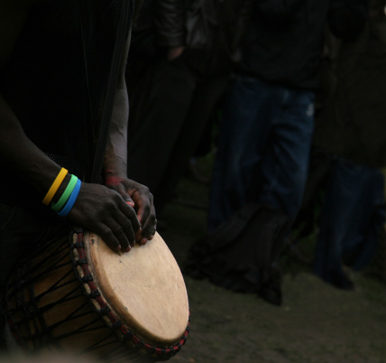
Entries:
MULTIPOLYGON (((37 2, 0 1, 0 70, 10 61, 30 6, 37 2)), ((60 172, 60 166, 25 135, 17 116, 1 94, 0 165, 4 178, 23 179, 29 192, 40 193, 42 197, 60 172)))

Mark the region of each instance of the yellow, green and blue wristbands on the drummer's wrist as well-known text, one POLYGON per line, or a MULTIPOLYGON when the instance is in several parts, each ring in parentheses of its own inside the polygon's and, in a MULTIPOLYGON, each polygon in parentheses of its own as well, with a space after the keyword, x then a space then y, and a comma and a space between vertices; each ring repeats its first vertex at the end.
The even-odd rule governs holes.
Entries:
MULTIPOLYGON (((61 168, 60 173, 56 177, 55 181, 53 181, 50 190, 47 192, 46 196, 42 200, 42 203, 46 206, 49 206, 55 193, 58 191, 60 184, 64 181, 67 173, 69 171, 61 168)), ((56 211, 60 217, 66 217, 69 214, 69 211, 74 207, 75 201, 78 198, 78 194, 80 191, 81 181, 75 175, 71 175, 71 179, 69 180, 69 185, 66 187, 66 190, 60 197, 56 203, 51 203, 51 209, 56 211)))

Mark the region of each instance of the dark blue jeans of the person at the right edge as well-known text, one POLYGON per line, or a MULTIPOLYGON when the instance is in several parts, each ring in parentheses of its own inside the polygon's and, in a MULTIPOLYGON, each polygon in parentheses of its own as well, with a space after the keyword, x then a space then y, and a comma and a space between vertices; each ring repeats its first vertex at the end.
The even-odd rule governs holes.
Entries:
POLYGON ((361 270, 371 261, 384 223, 383 174, 337 158, 321 210, 315 274, 336 287, 351 288, 343 265, 361 270))

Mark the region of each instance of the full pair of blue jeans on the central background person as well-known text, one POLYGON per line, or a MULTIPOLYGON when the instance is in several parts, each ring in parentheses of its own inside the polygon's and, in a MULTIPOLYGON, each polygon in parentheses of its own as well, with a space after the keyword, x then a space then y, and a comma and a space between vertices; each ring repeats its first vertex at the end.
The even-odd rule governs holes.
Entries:
POLYGON ((295 218, 313 125, 313 92, 244 76, 234 80, 218 138, 209 231, 251 200, 295 218))

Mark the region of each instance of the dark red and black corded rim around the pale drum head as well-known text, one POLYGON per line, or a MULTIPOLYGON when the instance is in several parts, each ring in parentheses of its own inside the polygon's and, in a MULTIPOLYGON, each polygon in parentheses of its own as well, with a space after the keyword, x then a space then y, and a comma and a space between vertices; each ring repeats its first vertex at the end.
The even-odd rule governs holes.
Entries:
POLYGON ((173 345, 156 346, 151 343, 147 343, 129 326, 124 324, 118 317, 118 314, 109 306, 103 293, 98 289, 94 283, 94 277, 92 271, 89 268, 87 262, 87 254, 85 249, 84 236, 87 231, 84 228, 74 227, 69 234, 69 251, 70 258, 74 267, 74 273, 81 284, 82 291, 87 298, 87 302, 91 305, 93 310, 97 312, 106 324, 107 328, 114 330, 116 333, 121 334, 123 337, 123 345, 128 345, 130 349, 144 350, 149 355, 156 355, 163 358, 170 358, 174 356, 188 339, 188 332, 190 326, 190 311, 188 312, 188 325, 185 332, 180 337, 179 341, 173 345), (96 304, 101 307, 100 310, 96 308, 96 304), (109 320, 110 323, 108 323, 109 320))

